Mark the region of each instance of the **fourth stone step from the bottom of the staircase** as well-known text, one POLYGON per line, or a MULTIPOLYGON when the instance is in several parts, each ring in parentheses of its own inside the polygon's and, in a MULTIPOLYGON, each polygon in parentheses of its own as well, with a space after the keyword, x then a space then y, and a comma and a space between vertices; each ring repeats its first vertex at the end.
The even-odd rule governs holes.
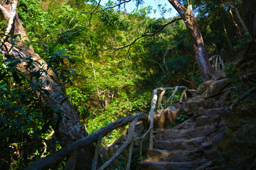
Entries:
POLYGON ((155 135, 154 138, 155 140, 165 140, 169 142, 177 140, 178 138, 190 140, 195 137, 206 137, 210 134, 210 132, 213 132, 213 128, 213 125, 206 125, 203 127, 196 127, 185 130, 168 129, 155 135))

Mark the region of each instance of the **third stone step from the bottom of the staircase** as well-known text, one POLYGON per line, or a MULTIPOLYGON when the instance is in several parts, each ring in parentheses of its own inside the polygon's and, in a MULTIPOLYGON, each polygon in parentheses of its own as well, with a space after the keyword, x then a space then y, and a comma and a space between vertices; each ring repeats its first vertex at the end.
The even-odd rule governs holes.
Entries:
POLYGON ((191 151, 201 146, 201 143, 206 141, 206 137, 195 137, 190 140, 174 140, 174 141, 154 141, 156 149, 166 151, 188 150, 191 151))

